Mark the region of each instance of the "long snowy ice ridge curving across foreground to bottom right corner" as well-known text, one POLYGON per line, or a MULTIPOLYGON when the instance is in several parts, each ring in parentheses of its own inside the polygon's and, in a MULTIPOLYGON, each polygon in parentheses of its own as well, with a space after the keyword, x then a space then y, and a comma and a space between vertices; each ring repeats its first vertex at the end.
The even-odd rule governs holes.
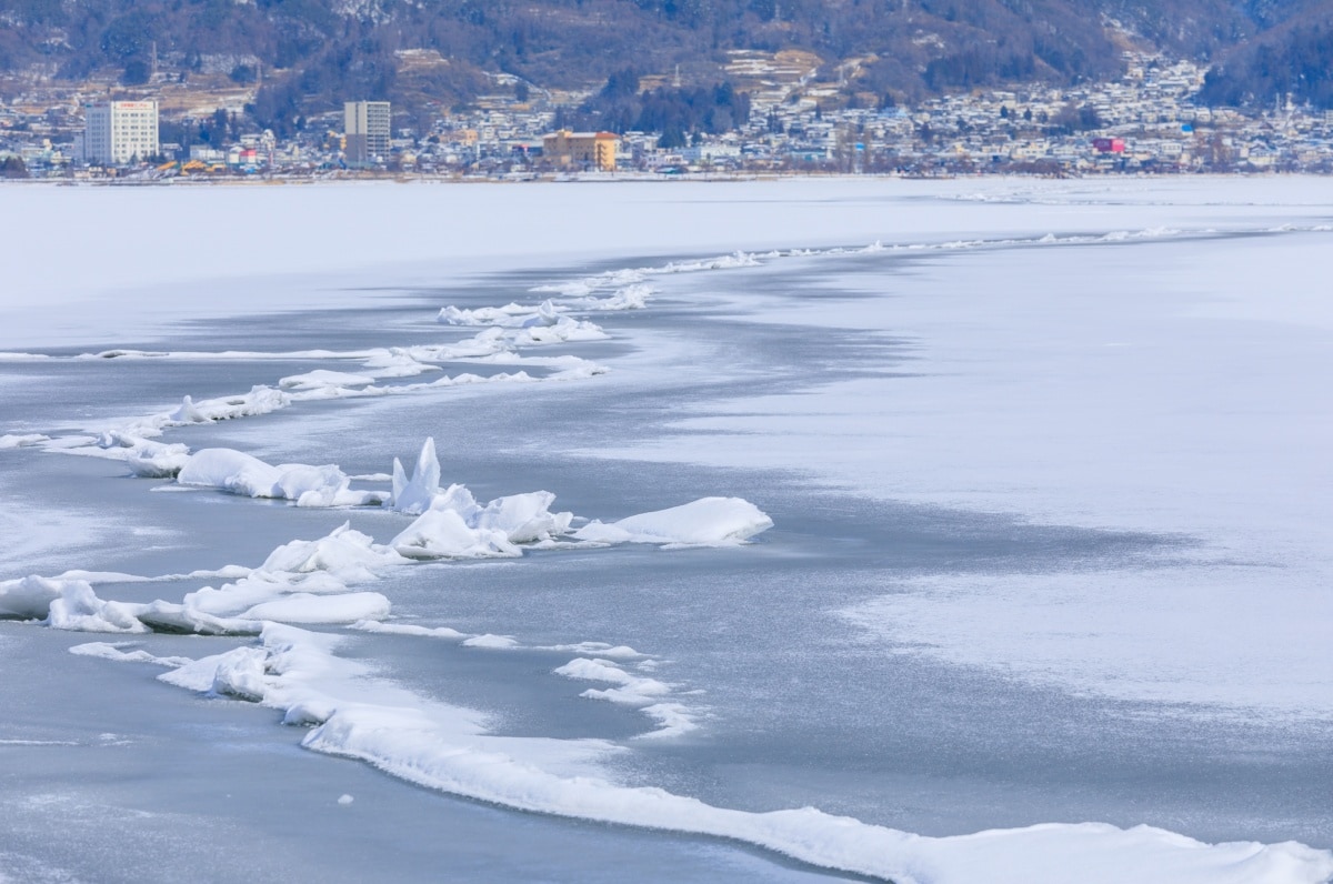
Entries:
MULTIPOLYGON (((204 657, 159 677, 281 709, 289 721, 316 724, 303 740, 307 748, 363 759, 431 788, 545 813, 736 839, 885 880, 1317 884, 1333 875, 1333 855, 1293 843, 1208 845, 1150 827, 1092 823, 932 839, 813 808, 750 813, 617 785, 589 767, 613 751, 605 743, 488 737, 476 713, 375 685, 365 665, 335 656, 336 647, 332 636, 268 625, 260 647, 204 657), (367 688, 376 687, 379 701, 365 701, 367 688)), ((603 680, 615 668, 576 661, 571 672, 603 680)))

